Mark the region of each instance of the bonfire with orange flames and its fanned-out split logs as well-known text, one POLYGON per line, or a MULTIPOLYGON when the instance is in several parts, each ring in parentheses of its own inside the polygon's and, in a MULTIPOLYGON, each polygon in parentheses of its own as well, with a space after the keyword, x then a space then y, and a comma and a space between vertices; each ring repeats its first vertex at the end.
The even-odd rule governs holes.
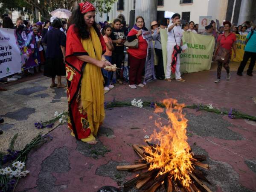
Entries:
MULTIPOLYGON (((137 171, 148 169, 124 183, 124 187, 135 185, 140 191, 154 192, 161 185, 166 192, 211 192, 201 181, 210 183, 198 167, 209 169, 205 156, 192 153, 187 143, 186 127, 188 120, 182 113, 184 104, 175 99, 165 99, 166 114, 169 123, 163 125, 155 122, 158 128, 150 138, 145 140, 148 145, 133 145, 141 157, 134 165, 117 166, 118 170, 137 171), (199 180, 201 179, 201 180, 199 180)), ((155 113, 163 113, 164 109, 155 105, 155 113)))

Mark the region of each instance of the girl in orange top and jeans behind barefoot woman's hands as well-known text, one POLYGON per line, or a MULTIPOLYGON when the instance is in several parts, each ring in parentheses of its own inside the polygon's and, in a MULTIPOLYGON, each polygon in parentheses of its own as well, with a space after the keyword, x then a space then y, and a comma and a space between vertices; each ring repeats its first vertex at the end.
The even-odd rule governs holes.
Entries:
MULTIPOLYGON (((110 38, 110 35, 112 33, 112 28, 109 25, 106 25, 103 29, 102 29, 102 35, 106 44, 106 52, 104 53, 105 58, 111 62, 112 60, 112 51, 114 50, 114 46, 112 44, 112 40, 110 38)), ((109 88, 113 88, 114 86, 112 84, 110 84, 110 79, 112 76, 111 71, 107 71, 107 70, 103 70, 103 74, 104 74, 104 79, 105 79, 105 86, 104 86, 104 90, 109 90, 109 88)))

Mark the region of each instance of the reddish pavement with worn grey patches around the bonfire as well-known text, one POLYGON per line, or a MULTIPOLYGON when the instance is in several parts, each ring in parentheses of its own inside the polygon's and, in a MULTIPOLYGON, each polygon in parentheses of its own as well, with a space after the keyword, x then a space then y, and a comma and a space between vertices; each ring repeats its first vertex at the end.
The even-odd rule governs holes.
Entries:
MULTIPOLYGON (((185 83, 153 81, 137 89, 116 86, 105 95, 105 100, 161 101, 171 97, 186 105, 210 103, 217 108, 236 108, 256 116, 253 102, 256 76, 236 76, 237 64, 231 66, 230 81, 225 80, 223 71, 219 84, 213 83, 216 77, 213 64, 210 71, 183 75, 185 83)), ((54 95, 51 96, 53 99, 54 95)), ((44 109, 41 111, 47 113, 44 109)), ((54 111, 58 110, 48 110, 50 116, 54 111)), ((256 123, 193 109, 184 112, 189 120, 188 141, 192 150, 195 154, 207 155, 206 163, 210 166, 207 178, 212 183, 207 186, 213 192, 256 191, 256 123)), ((131 145, 144 144, 144 136, 152 133, 154 121, 159 118, 167 123, 166 116, 158 116, 152 108, 108 109, 96 145, 77 141, 70 135, 67 125, 58 126, 50 133, 52 141, 29 154, 26 168, 30 173, 20 180, 16 191, 96 192, 102 186, 122 186, 137 173, 116 171, 116 165, 133 164, 138 159, 131 145)))

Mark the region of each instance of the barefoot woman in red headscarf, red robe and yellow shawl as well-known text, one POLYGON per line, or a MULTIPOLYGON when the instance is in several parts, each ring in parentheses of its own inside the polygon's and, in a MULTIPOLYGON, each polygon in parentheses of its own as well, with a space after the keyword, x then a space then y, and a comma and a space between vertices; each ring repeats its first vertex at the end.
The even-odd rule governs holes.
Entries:
POLYGON ((66 74, 71 135, 96 144, 95 136, 105 118, 104 79, 101 68, 111 66, 105 57, 105 42, 95 22, 95 8, 79 3, 67 31, 66 74))

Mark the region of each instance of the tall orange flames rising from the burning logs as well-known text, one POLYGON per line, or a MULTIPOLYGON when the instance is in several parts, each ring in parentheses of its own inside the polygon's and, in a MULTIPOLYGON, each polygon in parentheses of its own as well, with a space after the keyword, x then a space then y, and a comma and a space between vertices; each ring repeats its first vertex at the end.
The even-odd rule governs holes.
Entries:
MULTIPOLYGON (((150 154, 145 160, 150 163, 148 170, 160 169, 157 177, 169 172, 174 180, 180 180, 180 183, 189 187, 191 179, 188 172, 193 171, 190 161, 192 155, 189 153, 190 146, 187 143, 186 127, 188 120, 182 114, 185 104, 178 104, 175 99, 164 99, 169 124, 162 125, 161 122, 155 122, 160 129, 159 132, 153 131, 148 141, 154 141, 157 145, 145 147, 145 152, 150 154)), ((155 112, 160 112, 156 108, 155 112)))

